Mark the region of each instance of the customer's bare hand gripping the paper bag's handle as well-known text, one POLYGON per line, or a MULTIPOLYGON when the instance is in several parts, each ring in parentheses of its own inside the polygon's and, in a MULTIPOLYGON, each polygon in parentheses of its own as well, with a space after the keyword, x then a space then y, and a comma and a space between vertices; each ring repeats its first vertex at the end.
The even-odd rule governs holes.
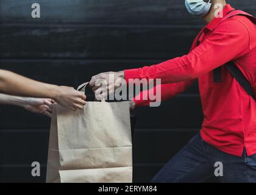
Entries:
POLYGON ((54 100, 63 107, 76 111, 77 108, 82 109, 86 104, 86 96, 82 91, 66 86, 58 87, 58 91, 54 100))

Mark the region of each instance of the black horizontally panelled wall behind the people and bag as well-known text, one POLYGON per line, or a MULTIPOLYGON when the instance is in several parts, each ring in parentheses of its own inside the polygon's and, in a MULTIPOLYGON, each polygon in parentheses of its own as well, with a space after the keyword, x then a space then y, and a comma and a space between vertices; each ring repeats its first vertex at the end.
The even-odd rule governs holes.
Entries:
MULTIPOLYGON (((183 0, 0 0, 0 68, 77 87, 103 71, 152 65, 186 54, 203 23, 183 0)), ((255 0, 230 1, 256 15, 255 0)), ((134 182, 149 182, 202 121, 197 85, 158 108, 137 108, 134 182)), ((50 119, 1 106, 0 181, 45 182, 50 119), (30 174, 41 163, 41 177, 30 174)))

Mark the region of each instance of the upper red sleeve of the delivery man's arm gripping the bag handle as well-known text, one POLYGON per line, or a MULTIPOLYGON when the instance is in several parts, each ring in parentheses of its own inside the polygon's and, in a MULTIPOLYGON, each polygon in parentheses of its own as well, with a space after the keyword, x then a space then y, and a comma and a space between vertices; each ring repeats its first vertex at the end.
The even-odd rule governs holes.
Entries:
POLYGON ((127 82, 136 78, 162 79, 162 83, 191 80, 246 54, 248 50, 245 48, 248 48, 248 44, 249 34, 246 27, 231 18, 219 24, 210 37, 188 55, 158 65, 127 69, 124 75, 127 82))

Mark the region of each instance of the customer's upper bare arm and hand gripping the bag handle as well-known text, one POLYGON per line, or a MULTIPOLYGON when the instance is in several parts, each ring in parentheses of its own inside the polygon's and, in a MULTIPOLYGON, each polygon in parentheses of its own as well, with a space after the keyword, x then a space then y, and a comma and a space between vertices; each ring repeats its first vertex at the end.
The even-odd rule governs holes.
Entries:
POLYGON ((86 96, 72 87, 59 87, 38 82, 10 71, 0 69, 0 93, 35 98, 51 98, 71 110, 82 108, 86 96))

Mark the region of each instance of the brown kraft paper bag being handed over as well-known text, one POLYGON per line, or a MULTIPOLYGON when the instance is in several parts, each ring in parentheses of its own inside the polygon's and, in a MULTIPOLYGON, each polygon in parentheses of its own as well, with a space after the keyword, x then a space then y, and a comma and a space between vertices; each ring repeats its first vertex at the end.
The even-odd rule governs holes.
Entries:
POLYGON ((132 182, 129 102, 54 104, 46 182, 132 182))

